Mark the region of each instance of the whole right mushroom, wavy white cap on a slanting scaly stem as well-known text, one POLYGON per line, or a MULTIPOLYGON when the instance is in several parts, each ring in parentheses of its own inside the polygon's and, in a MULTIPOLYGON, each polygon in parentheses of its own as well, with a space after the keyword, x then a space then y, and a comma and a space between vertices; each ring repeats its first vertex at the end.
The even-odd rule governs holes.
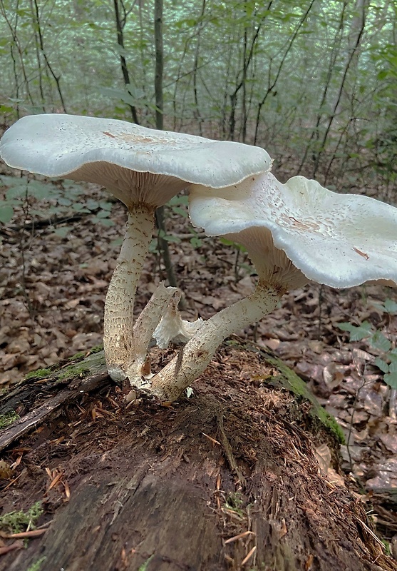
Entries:
POLYGON ((303 176, 282 184, 263 173, 219 190, 190 187, 189 211, 207 236, 245 246, 259 281, 252 295, 205 321, 152 378, 152 392, 164 400, 175 400, 228 335, 273 310, 289 288, 309 281, 397 286, 397 208, 373 198, 334 193, 303 176))

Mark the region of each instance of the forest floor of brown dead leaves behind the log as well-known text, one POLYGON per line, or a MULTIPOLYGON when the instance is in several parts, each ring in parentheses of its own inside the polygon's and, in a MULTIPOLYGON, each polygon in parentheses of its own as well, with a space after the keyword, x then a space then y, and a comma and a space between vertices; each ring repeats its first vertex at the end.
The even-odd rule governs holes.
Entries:
MULTIPOLYGON (((62 188, 61 182, 48 184, 62 188)), ((93 185, 82 188, 87 190, 78 201, 92 210, 79 213, 77 219, 71 218, 76 218, 76 211, 67 200, 62 205, 59 199, 29 198, 29 206, 26 201, 16 205, 14 218, 0 228, 0 390, 31 370, 102 343, 103 303, 126 213, 123 205, 112 203, 114 225, 103 226, 95 213, 99 203, 109 200, 108 194, 93 185), (97 201, 96 205, 88 204, 90 200, 97 201), (61 211, 56 212, 56 207, 61 211), (56 216, 69 219, 54 223, 56 216), (43 222, 48 217, 53 224, 43 222)), ((185 295, 184 318, 207 319, 252 291, 255 276, 244 252, 192 230, 184 202, 167 207, 172 263, 185 295)), ((153 241, 138 287, 137 315, 165 279, 156 250, 153 241)), ((376 357, 384 353, 366 339, 351 343, 338 327, 341 322, 360 325, 368 321, 396 346, 397 316, 383 305, 393 295, 391 288, 380 285, 349 290, 308 285, 284 295, 277 310, 239 332, 239 337, 271 349, 306 380, 344 430, 345 477, 358 482, 363 493, 382 495, 382 505, 395 509, 396 395, 375 365, 376 357)), ((232 360, 230 370, 255 381, 247 363, 232 360)), ((397 515, 382 505, 376 517, 391 539, 397 534, 397 515)))

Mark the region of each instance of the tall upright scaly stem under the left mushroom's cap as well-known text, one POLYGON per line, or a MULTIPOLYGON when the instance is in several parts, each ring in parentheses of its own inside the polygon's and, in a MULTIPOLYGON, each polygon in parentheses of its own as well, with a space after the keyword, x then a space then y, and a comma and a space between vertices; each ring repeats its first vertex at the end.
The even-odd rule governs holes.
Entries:
POLYGON ((153 208, 130 209, 123 246, 105 298, 103 348, 109 375, 116 381, 125 379, 134 351, 135 291, 148 255, 154 221, 153 208))

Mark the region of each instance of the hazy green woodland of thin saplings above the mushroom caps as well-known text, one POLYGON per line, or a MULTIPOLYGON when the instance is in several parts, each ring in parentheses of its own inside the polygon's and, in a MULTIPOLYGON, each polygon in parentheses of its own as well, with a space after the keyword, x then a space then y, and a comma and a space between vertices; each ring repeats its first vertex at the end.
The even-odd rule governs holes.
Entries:
MULTIPOLYGON (((3 123, 68 112, 156 125, 152 2, 2 0, 0 11, 3 123)), ((393 1, 167 1, 162 21, 165 128, 264 146, 286 175, 387 196, 393 1)))

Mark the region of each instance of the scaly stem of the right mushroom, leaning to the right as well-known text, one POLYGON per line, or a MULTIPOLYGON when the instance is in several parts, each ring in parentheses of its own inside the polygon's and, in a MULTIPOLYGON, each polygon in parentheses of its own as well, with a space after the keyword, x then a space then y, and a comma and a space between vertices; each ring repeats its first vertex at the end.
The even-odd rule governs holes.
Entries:
POLYGON ((274 310, 285 291, 259 280, 249 297, 233 303, 202 324, 180 353, 152 378, 150 393, 163 401, 176 400, 202 375, 222 341, 274 310))

